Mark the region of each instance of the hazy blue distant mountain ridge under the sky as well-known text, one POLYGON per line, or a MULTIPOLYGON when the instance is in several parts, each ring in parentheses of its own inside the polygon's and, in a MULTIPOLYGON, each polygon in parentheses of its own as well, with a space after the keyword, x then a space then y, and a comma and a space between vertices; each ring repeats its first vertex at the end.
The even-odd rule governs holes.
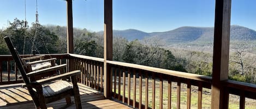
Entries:
MULTIPOLYGON (((240 25, 231 25, 230 27, 231 41, 248 41, 256 40, 256 31, 242 27, 240 25)), ((144 31, 127 29, 113 30, 114 36, 121 36, 128 41, 138 40, 154 40, 158 39, 166 44, 170 43, 186 43, 186 42, 202 42, 213 41, 213 27, 180 27, 170 31, 146 33, 144 31)))

